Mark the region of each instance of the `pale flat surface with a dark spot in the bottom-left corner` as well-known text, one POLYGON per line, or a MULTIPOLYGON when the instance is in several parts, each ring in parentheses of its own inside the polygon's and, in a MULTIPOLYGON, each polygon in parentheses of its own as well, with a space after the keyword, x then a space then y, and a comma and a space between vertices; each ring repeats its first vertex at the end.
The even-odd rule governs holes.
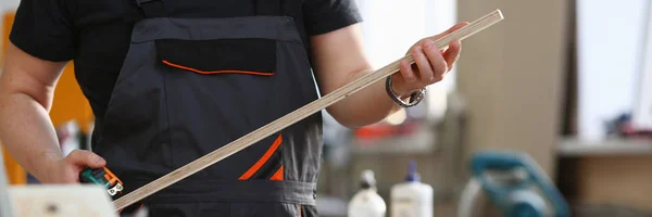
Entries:
POLYGON ((15 217, 115 217, 100 186, 22 186, 9 189, 15 217))

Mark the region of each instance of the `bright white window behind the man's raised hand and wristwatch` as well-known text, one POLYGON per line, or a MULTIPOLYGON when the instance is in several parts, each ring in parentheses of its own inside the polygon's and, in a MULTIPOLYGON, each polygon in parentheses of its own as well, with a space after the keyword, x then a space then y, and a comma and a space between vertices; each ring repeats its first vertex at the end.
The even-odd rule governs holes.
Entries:
MULTIPOLYGON (((456 0, 355 1, 365 21, 362 31, 366 53, 375 68, 402 58, 419 39, 437 35, 457 22, 456 0)), ((455 68, 443 81, 428 88, 424 103, 428 104, 429 117, 443 115, 446 93, 454 88, 455 68)))

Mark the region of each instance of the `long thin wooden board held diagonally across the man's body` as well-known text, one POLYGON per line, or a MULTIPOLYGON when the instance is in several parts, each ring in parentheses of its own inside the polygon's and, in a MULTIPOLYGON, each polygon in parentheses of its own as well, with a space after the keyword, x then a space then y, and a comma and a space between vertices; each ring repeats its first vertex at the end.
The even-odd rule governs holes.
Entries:
MULTIPOLYGON (((502 12, 500 10, 496 10, 472 23, 469 23, 468 25, 447 35, 443 36, 442 38, 438 39, 435 41, 435 44, 437 46, 437 48, 443 49, 447 48, 448 44, 450 42, 452 42, 453 40, 462 40, 465 39, 480 30, 484 30, 485 28, 488 28, 489 26, 500 22, 503 20, 503 15, 502 12)), ((355 79, 354 81, 333 91, 331 93, 328 93, 326 95, 324 95, 323 98, 315 100, 302 107, 300 107, 299 110, 296 110, 256 130, 253 130, 251 132, 249 132, 248 135, 183 166, 179 167, 178 169, 139 188, 136 189, 135 191, 125 194, 124 196, 117 199, 114 201, 114 205, 115 208, 117 210, 123 209, 134 203, 137 203, 138 201, 158 192, 163 190, 164 188, 176 183, 177 181, 180 181, 183 179, 185 179, 186 177, 189 177, 191 175, 193 175, 195 173, 198 173, 254 143, 256 143, 258 141, 267 138, 269 136, 272 136, 273 133, 276 133, 291 125, 293 125, 294 123, 314 114, 317 112, 321 112, 322 110, 326 108, 327 106, 339 102, 340 100, 377 82, 380 81, 383 79, 385 79, 387 76, 390 76, 394 73, 399 72, 399 64, 401 60, 408 60, 409 63, 414 63, 414 59, 412 59, 412 55, 408 54, 404 58, 397 60, 394 62, 392 62, 391 64, 374 72, 371 73, 368 75, 365 75, 363 77, 360 77, 358 79, 355 79)))

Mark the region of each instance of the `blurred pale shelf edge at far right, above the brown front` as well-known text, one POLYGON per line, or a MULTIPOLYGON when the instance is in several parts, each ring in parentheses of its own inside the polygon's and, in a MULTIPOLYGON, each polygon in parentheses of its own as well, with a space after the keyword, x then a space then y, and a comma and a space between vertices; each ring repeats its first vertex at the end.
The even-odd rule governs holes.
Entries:
POLYGON ((557 145, 557 153, 562 156, 652 155, 652 141, 636 139, 585 141, 564 138, 557 145))

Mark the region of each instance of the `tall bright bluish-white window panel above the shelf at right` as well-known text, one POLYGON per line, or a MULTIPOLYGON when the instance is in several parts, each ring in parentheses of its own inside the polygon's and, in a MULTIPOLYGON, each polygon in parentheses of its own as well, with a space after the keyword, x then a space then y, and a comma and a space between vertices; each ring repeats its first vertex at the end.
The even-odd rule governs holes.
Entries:
POLYGON ((577 3, 578 136, 602 139, 605 122, 631 112, 637 101, 648 1, 577 3))

